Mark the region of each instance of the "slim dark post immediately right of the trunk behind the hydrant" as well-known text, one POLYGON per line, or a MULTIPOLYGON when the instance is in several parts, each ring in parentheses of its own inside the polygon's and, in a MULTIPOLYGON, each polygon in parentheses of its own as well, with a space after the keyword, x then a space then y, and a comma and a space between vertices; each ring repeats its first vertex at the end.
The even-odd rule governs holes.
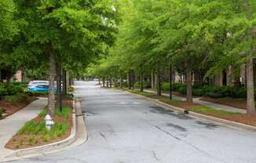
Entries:
POLYGON ((61 63, 57 61, 57 107, 62 112, 62 93, 61 93, 61 63))

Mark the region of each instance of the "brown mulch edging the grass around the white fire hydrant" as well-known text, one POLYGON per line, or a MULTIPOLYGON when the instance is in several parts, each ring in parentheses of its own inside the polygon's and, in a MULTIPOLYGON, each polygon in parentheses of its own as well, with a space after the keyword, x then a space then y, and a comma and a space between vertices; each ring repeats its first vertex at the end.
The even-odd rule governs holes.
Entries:
MULTIPOLYGON (((64 100, 63 106, 72 108, 72 101, 64 100)), ((64 118, 64 117, 53 117, 54 122, 64 122, 67 120, 68 120, 70 126, 73 126, 72 112, 69 115, 68 119, 64 118)), ((43 120, 43 118, 36 117, 31 121, 44 121, 44 120, 43 120)), ((35 136, 33 134, 20 134, 19 135, 18 133, 16 133, 16 135, 14 135, 13 138, 10 139, 9 142, 5 144, 5 148, 11 149, 11 150, 20 150, 20 149, 29 148, 29 147, 38 147, 38 146, 46 145, 49 143, 56 143, 60 140, 66 139, 66 138, 68 138, 68 136, 70 136, 70 134, 71 134, 71 127, 68 129, 68 131, 63 136, 57 137, 55 139, 49 139, 49 141, 45 141, 44 139, 42 139, 41 135, 37 135, 37 136, 35 136), (31 138, 31 136, 34 136, 37 139, 35 143, 30 143, 29 139, 31 138), (20 144, 21 141, 23 142, 22 144, 20 144)))

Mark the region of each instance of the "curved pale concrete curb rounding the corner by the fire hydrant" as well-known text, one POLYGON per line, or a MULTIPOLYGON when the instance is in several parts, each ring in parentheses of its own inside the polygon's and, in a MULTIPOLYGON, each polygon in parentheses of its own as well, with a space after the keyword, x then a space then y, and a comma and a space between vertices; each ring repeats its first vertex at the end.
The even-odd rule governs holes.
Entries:
POLYGON ((70 147, 77 147, 87 140, 86 125, 82 116, 77 117, 76 114, 82 113, 81 102, 73 100, 73 126, 71 135, 56 143, 46 144, 40 147, 31 147, 21 150, 13 150, 13 154, 9 154, 3 161, 14 161, 22 158, 31 158, 44 154, 50 154, 70 147), (78 111, 78 112, 76 112, 78 111))

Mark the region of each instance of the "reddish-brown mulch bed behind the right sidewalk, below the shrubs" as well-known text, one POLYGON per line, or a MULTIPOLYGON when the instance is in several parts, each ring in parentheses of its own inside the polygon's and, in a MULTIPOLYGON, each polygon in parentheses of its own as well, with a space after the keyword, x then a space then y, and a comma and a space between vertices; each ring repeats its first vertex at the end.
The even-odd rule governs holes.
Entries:
POLYGON ((214 99, 214 98, 210 98, 210 97, 202 97, 202 98, 200 98, 200 100, 247 110, 247 101, 246 100, 241 100, 241 99, 236 100, 236 99, 228 99, 228 98, 223 100, 223 99, 214 99))

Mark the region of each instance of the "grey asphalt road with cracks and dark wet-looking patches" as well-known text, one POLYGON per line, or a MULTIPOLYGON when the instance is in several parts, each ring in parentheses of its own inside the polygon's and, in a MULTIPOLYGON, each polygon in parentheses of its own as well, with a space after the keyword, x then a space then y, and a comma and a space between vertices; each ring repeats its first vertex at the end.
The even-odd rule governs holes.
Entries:
POLYGON ((255 163, 256 134, 177 114, 137 96, 75 82, 89 139, 71 150, 16 162, 255 163))

